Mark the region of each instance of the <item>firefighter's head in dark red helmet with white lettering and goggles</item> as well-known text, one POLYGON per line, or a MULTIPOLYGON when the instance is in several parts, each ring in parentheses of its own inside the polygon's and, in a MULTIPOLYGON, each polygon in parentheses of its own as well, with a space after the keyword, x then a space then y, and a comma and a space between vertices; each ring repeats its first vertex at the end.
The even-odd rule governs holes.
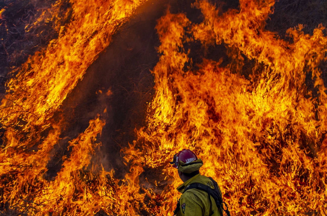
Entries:
POLYGON ((190 149, 182 149, 174 155, 173 161, 170 162, 170 164, 178 169, 178 174, 184 181, 185 179, 199 173, 203 161, 198 159, 197 155, 190 149))

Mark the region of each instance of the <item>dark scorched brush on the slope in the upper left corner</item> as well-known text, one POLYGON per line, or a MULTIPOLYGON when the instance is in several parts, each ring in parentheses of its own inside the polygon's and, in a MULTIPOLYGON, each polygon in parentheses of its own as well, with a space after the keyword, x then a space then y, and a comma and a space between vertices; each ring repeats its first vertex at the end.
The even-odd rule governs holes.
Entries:
POLYGON ((69 1, 0 2, 0 92, 10 72, 24 63, 36 51, 45 49, 49 41, 58 38, 59 27, 69 22, 69 1), (60 4, 57 4, 60 2, 60 4), (58 12, 53 16, 52 11, 58 12))

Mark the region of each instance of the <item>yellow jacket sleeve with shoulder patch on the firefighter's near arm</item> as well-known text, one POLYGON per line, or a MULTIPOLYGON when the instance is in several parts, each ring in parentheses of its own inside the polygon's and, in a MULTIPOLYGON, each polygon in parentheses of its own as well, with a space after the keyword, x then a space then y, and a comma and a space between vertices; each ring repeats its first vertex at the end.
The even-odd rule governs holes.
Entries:
POLYGON ((191 192, 185 192, 180 199, 182 216, 202 216, 203 204, 200 198, 191 192))

